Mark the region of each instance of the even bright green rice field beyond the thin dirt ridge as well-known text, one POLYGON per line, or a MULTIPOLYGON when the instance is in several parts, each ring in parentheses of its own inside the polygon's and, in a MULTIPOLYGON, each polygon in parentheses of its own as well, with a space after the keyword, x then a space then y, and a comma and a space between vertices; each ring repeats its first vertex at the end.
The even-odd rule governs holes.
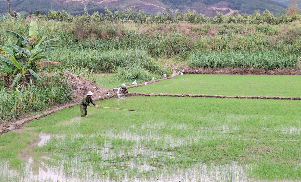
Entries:
POLYGON ((300 79, 299 75, 183 75, 129 92, 299 97, 300 79))

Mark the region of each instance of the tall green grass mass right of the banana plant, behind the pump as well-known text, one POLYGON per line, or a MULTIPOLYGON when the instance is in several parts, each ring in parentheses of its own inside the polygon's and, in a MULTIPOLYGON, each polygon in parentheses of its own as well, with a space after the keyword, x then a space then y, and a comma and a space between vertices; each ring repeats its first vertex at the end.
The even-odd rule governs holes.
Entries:
MULTIPOLYGON (((124 81, 133 79, 150 80, 154 74, 163 76, 171 74, 169 70, 161 67, 146 51, 141 49, 109 50, 56 50, 49 53, 53 61, 61 61, 62 67, 67 71, 93 70, 96 73, 119 73, 124 81), (132 72, 133 71, 133 72, 132 72), (130 73, 132 72, 132 73, 130 73)), ((47 68, 46 68, 47 69, 47 68)))

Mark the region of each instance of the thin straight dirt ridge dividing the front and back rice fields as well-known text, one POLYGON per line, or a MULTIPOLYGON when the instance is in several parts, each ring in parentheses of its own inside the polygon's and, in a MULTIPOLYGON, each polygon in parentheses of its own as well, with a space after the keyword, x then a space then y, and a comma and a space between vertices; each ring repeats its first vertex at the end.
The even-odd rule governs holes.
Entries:
POLYGON ((225 99, 276 99, 276 100, 301 100, 301 97, 265 97, 265 96, 219 96, 204 94, 168 94, 168 93, 127 93, 125 96, 161 96, 161 97, 209 97, 209 98, 225 98, 225 99))

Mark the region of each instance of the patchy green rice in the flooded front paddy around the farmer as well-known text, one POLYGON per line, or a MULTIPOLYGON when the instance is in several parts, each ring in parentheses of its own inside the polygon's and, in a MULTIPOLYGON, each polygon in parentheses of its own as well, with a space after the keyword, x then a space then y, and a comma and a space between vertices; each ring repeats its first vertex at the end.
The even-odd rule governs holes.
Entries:
MULTIPOLYGON (((40 133, 50 133, 30 153, 36 162, 53 166, 48 172, 61 171, 57 174, 66 179, 153 181, 178 173, 217 181, 213 171, 222 170, 217 164, 244 181, 300 178, 299 102, 137 97, 97 104, 138 112, 88 108, 92 115, 76 118, 78 107, 58 111, 30 122, 23 133, 0 136, 0 160, 15 160, 22 147, 14 139, 34 142, 40 133)), ((11 166, 23 171, 22 164, 11 166)))

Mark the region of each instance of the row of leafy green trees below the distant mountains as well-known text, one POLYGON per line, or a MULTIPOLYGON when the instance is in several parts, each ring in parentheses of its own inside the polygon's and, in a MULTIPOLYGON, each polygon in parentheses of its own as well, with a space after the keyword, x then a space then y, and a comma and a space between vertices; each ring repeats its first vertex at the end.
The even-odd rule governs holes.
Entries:
POLYGON ((234 13, 229 16, 224 16, 221 12, 216 11, 215 17, 207 17, 204 14, 198 14, 197 11, 191 11, 188 9, 187 13, 183 13, 178 9, 174 12, 172 9, 163 10, 158 12, 156 15, 147 14, 144 11, 139 10, 138 12, 133 11, 131 8, 123 9, 122 11, 110 11, 109 8, 105 7, 105 13, 99 13, 98 11, 90 15, 85 9, 85 13, 79 16, 73 16, 66 11, 52 11, 46 15, 40 11, 35 11, 30 16, 39 17, 46 19, 54 19, 60 21, 71 22, 76 18, 88 19, 93 18, 93 20, 98 22, 108 21, 111 23, 114 22, 135 22, 141 24, 152 24, 152 23, 179 23, 179 22, 188 22, 192 24, 201 24, 201 23, 213 23, 213 24, 222 24, 222 23, 236 23, 236 24, 288 24, 294 21, 301 21, 301 15, 297 11, 288 11, 290 14, 283 14, 280 17, 276 18, 274 14, 268 10, 265 10, 263 13, 254 12, 252 15, 248 14, 238 14, 234 13))

